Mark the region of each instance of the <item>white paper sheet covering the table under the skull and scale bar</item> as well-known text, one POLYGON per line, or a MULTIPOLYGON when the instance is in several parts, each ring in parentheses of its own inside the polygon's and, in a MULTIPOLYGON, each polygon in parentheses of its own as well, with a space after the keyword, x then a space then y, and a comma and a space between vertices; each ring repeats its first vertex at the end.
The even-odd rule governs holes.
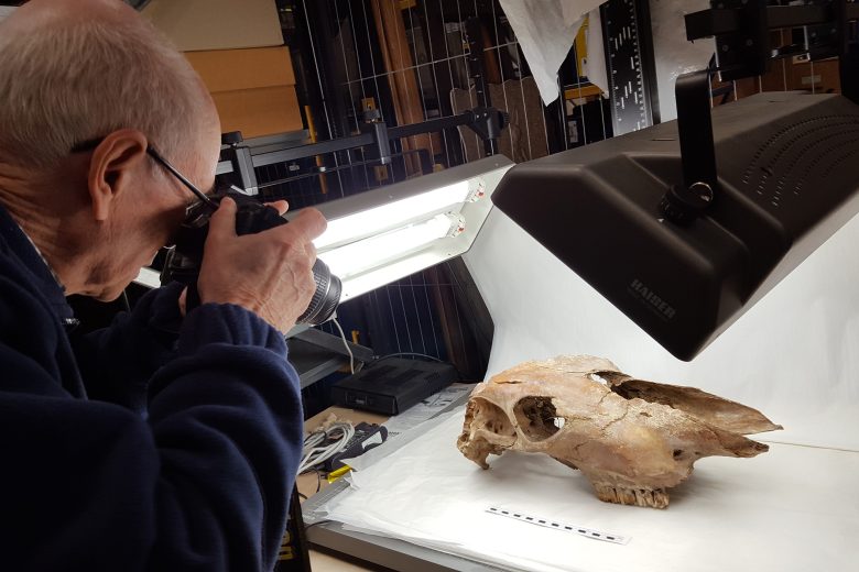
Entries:
POLYGON ((703 459, 659 510, 601 503, 545 455, 504 453, 483 471, 456 449, 461 421, 355 474, 329 518, 520 570, 857 570, 859 453, 775 444, 753 459, 703 459), (632 539, 589 540, 486 513, 492 505, 632 539))

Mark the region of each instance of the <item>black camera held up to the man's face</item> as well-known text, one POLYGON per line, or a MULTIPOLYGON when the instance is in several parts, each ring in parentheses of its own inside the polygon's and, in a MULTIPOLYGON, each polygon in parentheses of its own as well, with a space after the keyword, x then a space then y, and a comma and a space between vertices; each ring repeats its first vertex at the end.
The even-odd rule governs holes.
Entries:
MULTIPOLYGON (((187 310, 199 306, 197 278, 203 262, 203 246, 209 231, 209 218, 214 212, 213 204, 220 204, 224 197, 236 201, 236 234, 254 234, 287 222, 272 207, 235 190, 210 197, 211 202, 199 202, 192 207, 176 234, 175 248, 167 254, 164 270, 161 272, 161 284, 176 280, 188 286, 185 301, 187 310)), ((253 256, 253 253, 249 252, 247 255, 253 256)), ((313 278, 316 282, 316 290, 311 305, 298 317, 298 323, 309 326, 328 321, 334 316, 342 290, 340 278, 333 275, 319 258, 316 258, 313 265, 313 278)))

